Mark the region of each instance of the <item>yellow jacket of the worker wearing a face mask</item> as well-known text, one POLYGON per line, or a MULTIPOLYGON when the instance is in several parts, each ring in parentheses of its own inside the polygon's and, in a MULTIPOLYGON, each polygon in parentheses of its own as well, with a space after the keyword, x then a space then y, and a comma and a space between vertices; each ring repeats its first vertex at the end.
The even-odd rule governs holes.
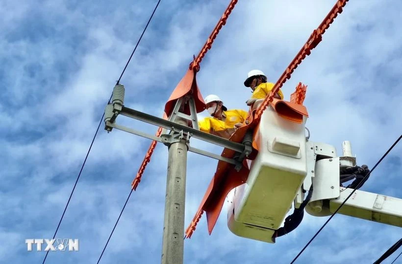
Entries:
POLYGON ((222 120, 205 117, 198 122, 200 131, 228 139, 235 131, 234 124, 243 123, 248 113, 245 110, 227 110, 222 113, 222 120))

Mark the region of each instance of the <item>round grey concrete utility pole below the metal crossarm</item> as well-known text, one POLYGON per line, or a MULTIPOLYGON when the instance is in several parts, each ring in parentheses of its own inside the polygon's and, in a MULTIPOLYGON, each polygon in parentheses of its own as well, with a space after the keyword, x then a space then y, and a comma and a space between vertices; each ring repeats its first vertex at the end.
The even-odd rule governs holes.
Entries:
POLYGON ((180 133, 176 134, 169 146, 162 264, 183 263, 187 142, 183 133, 180 133))

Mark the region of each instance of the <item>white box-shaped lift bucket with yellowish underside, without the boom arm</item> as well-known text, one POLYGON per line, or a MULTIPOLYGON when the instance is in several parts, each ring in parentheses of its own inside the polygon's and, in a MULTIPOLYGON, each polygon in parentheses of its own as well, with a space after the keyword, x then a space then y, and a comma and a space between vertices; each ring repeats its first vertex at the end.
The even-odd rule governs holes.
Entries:
POLYGON ((251 162, 247 183, 233 196, 235 221, 280 227, 307 175, 305 122, 306 117, 302 124, 286 120, 271 107, 263 112, 258 155, 251 162))

